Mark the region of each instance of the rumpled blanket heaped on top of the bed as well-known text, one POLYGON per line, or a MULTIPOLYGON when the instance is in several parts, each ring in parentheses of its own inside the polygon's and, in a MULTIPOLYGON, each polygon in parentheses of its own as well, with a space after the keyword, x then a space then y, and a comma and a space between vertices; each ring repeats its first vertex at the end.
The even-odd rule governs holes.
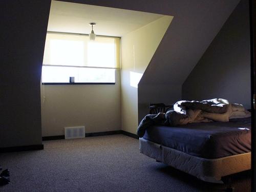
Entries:
POLYGON ((143 137, 147 127, 153 124, 175 126, 193 122, 221 121, 228 122, 232 118, 250 117, 242 104, 229 103, 226 99, 209 99, 203 101, 178 101, 174 110, 166 113, 146 115, 140 122, 137 135, 143 137))

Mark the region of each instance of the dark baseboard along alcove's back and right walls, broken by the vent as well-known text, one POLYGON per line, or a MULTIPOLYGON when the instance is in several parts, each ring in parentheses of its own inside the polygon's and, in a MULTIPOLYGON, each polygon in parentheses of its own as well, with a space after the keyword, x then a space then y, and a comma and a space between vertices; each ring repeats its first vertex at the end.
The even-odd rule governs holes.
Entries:
MULTIPOLYGON (((97 136, 104 136, 104 135, 117 135, 117 134, 123 134, 135 139, 139 139, 137 135, 133 133, 129 133, 123 130, 118 131, 109 131, 109 132, 96 132, 96 133, 86 133, 86 137, 97 137, 97 136)), ((65 139, 65 135, 56 135, 56 136, 46 136, 42 137, 43 141, 49 141, 49 140, 58 140, 58 139, 65 139)))

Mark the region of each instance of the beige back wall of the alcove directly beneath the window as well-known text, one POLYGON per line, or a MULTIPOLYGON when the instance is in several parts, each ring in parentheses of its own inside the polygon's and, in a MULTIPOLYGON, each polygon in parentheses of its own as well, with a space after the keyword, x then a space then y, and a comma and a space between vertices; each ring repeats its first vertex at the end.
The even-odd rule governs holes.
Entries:
POLYGON ((120 99, 120 70, 115 85, 41 86, 42 136, 64 135, 65 126, 83 125, 86 133, 121 130, 120 99))

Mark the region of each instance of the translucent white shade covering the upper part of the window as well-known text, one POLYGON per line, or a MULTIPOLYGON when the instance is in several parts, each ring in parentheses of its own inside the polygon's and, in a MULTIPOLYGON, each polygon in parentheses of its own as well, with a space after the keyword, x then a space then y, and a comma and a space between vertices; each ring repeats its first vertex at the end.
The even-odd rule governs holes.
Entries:
POLYGON ((119 68, 119 37, 47 33, 43 65, 119 68))

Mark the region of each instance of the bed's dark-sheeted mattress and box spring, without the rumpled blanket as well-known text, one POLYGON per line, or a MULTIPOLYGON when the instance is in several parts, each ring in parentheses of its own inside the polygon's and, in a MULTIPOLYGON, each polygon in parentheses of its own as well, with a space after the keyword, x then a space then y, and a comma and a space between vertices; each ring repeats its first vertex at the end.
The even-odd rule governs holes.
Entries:
POLYGON ((251 168, 250 117, 171 127, 154 124, 139 142, 140 153, 207 182, 223 183, 222 177, 251 168))

